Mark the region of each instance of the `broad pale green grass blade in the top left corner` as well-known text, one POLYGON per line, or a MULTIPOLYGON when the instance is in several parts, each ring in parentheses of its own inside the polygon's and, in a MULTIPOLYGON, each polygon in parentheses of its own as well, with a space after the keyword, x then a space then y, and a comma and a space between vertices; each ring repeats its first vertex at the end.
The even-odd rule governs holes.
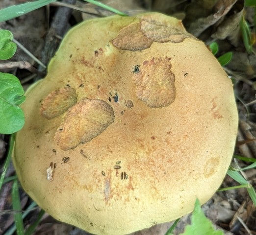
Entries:
POLYGON ((22 16, 30 11, 36 10, 42 6, 56 0, 37 0, 32 2, 26 2, 19 5, 13 5, 0 10, 0 22, 8 21, 10 19, 22 16))

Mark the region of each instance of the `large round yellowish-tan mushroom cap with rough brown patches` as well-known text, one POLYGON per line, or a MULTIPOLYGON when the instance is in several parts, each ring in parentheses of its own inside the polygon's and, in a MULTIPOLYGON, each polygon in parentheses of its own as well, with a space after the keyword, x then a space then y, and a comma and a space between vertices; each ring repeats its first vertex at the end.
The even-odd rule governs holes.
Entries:
POLYGON ((124 235, 205 203, 237 131, 231 80, 159 13, 73 27, 26 93, 13 162, 33 200, 92 234, 124 235))

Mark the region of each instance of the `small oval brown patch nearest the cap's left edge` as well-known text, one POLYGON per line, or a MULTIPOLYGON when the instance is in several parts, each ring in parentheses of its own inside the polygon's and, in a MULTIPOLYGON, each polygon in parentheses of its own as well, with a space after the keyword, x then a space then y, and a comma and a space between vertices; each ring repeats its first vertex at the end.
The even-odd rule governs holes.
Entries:
POLYGON ((40 113, 47 119, 55 118, 68 110, 77 102, 76 90, 64 87, 51 92, 43 100, 40 113))

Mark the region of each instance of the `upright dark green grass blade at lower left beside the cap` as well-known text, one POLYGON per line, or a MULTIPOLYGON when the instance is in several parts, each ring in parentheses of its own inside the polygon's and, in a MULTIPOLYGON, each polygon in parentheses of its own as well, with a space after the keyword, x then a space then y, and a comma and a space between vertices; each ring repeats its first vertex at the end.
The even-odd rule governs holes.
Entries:
MULTIPOLYGON (((12 186, 12 208, 13 208, 13 210, 16 210, 16 211, 22 210, 17 180, 15 180, 13 182, 13 186, 12 186)), ((17 235, 24 235, 24 225, 23 225, 22 213, 16 212, 14 214, 14 220, 15 220, 17 235)))

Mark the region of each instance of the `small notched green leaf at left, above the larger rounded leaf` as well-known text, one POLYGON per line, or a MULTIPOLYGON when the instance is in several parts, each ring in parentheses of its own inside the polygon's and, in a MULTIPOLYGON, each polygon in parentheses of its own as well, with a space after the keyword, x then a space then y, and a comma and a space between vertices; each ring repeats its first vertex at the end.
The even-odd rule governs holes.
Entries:
POLYGON ((8 60, 16 52, 17 45, 12 42, 13 34, 8 30, 0 30, 0 60, 8 60))

